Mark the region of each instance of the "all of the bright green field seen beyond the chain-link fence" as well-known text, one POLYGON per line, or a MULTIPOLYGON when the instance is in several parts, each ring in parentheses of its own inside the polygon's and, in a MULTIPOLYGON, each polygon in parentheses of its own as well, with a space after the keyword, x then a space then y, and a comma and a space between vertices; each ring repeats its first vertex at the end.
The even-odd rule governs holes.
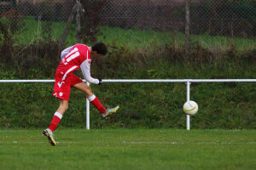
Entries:
MULTIPOLYGON (((3 19, 1 19, 3 20, 3 19)), ((25 27, 17 34, 15 34, 16 44, 29 44, 37 39, 44 37, 44 21, 34 20, 32 17, 27 17, 25 20, 25 27)), ((59 40, 63 34, 66 22, 51 22, 52 31, 51 37, 53 40, 59 40)), ((98 41, 103 41, 108 44, 115 44, 116 46, 125 45, 128 48, 152 48, 155 45, 166 43, 174 43, 177 46, 183 46, 185 36, 181 32, 169 31, 154 31, 154 30, 138 30, 138 29, 122 29, 118 27, 101 26, 99 29, 102 35, 99 35, 98 41)), ((71 26, 67 36, 67 46, 76 43, 76 27, 75 24, 71 26)), ((239 51, 250 50, 256 48, 256 40, 241 38, 241 37, 224 37, 224 36, 210 36, 207 34, 190 36, 191 42, 200 42, 200 44, 209 49, 228 49, 231 43, 239 51)))

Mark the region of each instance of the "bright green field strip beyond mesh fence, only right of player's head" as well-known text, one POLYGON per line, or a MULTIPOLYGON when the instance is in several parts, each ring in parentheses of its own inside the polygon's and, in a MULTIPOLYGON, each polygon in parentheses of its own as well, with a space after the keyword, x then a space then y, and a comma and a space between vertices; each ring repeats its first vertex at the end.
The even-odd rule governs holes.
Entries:
MULTIPOLYGON (((129 48, 143 48, 151 47, 155 45, 163 45, 174 43, 176 46, 183 46, 185 42, 185 35, 181 32, 167 32, 167 31, 154 31, 154 30, 137 30, 121 28, 109 28, 103 26, 100 28, 102 36, 98 39, 108 44, 116 42, 118 46, 127 46, 129 48), (107 37, 107 38, 103 38, 107 37)), ((256 48, 255 39, 246 39, 236 37, 234 39, 224 36, 211 36, 207 34, 202 35, 190 35, 190 42, 199 42, 202 47, 209 49, 225 50, 231 47, 231 44, 239 51, 249 50, 256 48)))

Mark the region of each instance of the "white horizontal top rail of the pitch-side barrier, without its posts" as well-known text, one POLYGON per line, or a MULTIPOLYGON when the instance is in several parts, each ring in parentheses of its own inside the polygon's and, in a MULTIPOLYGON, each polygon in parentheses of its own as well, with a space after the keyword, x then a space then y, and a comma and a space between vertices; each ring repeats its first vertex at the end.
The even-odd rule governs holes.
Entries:
MULTIPOLYGON (((55 82, 55 80, 0 80, 0 82, 55 82)), ((256 82, 256 79, 103 79, 102 82, 256 82)))

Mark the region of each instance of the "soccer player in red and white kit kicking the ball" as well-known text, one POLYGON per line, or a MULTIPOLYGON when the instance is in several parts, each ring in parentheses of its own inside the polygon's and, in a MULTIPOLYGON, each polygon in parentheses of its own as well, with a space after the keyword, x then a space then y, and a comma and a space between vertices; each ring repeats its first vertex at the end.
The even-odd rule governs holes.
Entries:
POLYGON ((86 98, 89 99, 90 103, 96 107, 105 119, 108 119, 109 116, 119 109, 119 106, 116 106, 106 110, 96 95, 92 93, 91 88, 87 86, 81 78, 73 74, 73 71, 81 68, 84 79, 87 82, 101 84, 102 79, 90 77, 90 54, 97 57, 107 53, 108 48, 103 42, 96 42, 92 47, 88 47, 84 44, 76 44, 61 52, 61 62, 55 72, 55 86, 53 93, 56 98, 61 99, 61 102, 59 108, 55 111, 49 127, 43 131, 44 136, 49 139, 50 144, 56 144, 53 132, 59 122, 61 122, 61 117, 65 111, 67 111, 71 87, 82 91, 86 95, 86 98))

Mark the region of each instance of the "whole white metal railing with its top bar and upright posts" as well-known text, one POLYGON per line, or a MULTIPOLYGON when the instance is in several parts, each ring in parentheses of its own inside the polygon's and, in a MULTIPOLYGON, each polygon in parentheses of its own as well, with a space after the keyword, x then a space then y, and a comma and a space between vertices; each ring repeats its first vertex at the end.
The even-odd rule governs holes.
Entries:
MULTIPOLYGON (((55 82, 55 80, 0 80, 0 83, 55 82)), ((84 81, 85 82, 85 81, 84 81)), ((256 82, 256 79, 105 79, 102 82, 185 82, 187 84, 187 101, 190 100, 192 82, 256 82)), ((90 86, 89 82, 86 82, 90 86)), ((90 129, 90 102, 86 99, 86 129, 90 129)), ((187 115, 186 129, 190 130, 190 116, 187 115)))

